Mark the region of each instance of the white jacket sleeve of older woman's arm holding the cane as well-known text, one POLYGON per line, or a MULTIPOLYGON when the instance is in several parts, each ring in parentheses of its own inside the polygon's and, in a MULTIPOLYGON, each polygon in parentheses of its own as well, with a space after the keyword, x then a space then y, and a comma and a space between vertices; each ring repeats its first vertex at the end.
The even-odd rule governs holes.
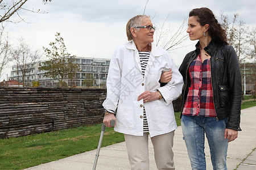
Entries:
POLYGON ((117 53, 118 50, 115 50, 110 60, 108 78, 106 80, 107 95, 106 100, 102 104, 104 109, 112 111, 117 109, 121 90, 122 65, 117 53))

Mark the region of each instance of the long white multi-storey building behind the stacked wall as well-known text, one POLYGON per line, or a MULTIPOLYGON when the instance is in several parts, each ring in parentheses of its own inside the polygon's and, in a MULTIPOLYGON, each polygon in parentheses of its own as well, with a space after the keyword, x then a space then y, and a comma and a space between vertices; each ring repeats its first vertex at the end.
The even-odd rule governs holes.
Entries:
MULTIPOLYGON (((76 63, 80 65, 81 71, 76 73, 75 78, 64 79, 69 87, 106 87, 106 77, 109 71, 110 59, 105 58, 85 58, 75 57, 76 63)), ((26 82, 31 86, 31 82, 40 82, 41 87, 56 87, 59 80, 44 77, 44 71, 39 70, 41 62, 34 64, 34 67, 27 71, 26 82)), ((10 80, 22 82, 22 74, 16 66, 12 67, 10 80)), ((25 83, 26 83, 25 82, 25 83)))

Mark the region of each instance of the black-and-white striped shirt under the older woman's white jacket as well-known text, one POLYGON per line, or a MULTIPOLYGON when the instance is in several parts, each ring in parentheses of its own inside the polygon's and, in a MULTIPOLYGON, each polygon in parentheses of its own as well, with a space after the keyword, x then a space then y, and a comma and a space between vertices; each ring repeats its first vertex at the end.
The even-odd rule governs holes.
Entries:
MULTIPOLYGON (((149 56, 150 56, 150 51, 148 52, 139 51, 139 59, 141 61, 141 70, 142 70, 143 78, 144 78, 149 56)), ((147 132, 148 132, 147 116, 146 116, 145 108, 143 107, 143 133, 147 133, 147 132)))

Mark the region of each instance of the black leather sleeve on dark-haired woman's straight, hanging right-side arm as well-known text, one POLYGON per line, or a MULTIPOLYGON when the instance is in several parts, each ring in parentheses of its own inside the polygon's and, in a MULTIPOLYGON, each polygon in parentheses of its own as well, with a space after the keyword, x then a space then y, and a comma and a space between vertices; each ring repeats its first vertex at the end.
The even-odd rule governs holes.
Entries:
POLYGON ((230 87, 229 120, 226 128, 241 131, 240 114, 242 100, 242 81, 238 57, 233 46, 227 56, 228 83, 230 87))

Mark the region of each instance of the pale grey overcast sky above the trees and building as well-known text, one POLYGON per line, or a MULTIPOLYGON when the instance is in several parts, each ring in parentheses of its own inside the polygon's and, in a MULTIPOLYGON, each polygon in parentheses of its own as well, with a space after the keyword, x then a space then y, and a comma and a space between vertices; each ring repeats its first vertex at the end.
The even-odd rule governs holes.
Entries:
MULTIPOLYGON (((5 29, 14 45, 19 37, 23 37, 33 49, 42 50, 43 46, 48 47, 49 42, 55 40, 56 32, 60 32, 72 55, 111 58, 117 45, 127 41, 127 21, 135 15, 143 14, 146 2, 147 0, 52 0, 44 5, 40 0, 30 0, 25 3, 24 8, 34 11, 40 9, 45 14, 20 11, 19 15, 28 23, 9 23, 5 29)), ((229 15, 230 21, 233 14, 238 13, 239 19, 246 24, 256 25, 255 0, 149 0, 145 14, 151 16, 157 28, 170 14, 166 25, 175 31, 188 17, 189 11, 198 7, 210 8, 217 18, 224 12, 229 15)), ((12 20, 18 20, 15 17, 12 20)), ((194 49, 196 41, 190 41, 188 37, 186 43, 193 45, 170 53, 176 65, 180 65, 185 54, 194 49)), ((10 71, 5 74, 10 75, 10 71)))

